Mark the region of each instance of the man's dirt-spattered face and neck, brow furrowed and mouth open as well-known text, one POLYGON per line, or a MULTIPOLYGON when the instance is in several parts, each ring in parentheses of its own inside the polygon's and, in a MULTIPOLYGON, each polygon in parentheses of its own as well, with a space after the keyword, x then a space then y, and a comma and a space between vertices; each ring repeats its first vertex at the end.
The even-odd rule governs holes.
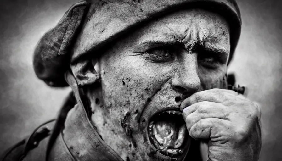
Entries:
POLYGON ((88 92, 92 123, 124 160, 183 160, 190 137, 178 108, 222 88, 229 26, 209 11, 181 10, 120 38, 99 58, 101 87, 88 92))

